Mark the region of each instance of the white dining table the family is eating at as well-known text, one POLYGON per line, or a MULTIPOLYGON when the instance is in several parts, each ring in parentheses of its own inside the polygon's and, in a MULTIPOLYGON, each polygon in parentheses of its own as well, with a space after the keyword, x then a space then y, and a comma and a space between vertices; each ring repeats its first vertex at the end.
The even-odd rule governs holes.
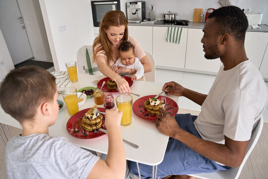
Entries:
MULTIPOLYGON (((78 82, 72 83, 70 87, 74 87, 77 90, 84 87, 95 87, 93 81, 101 80, 105 76, 93 76, 87 74, 78 74, 78 82)), ((157 95, 161 92, 163 83, 152 83, 143 81, 134 81, 131 91, 139 94, 140 97, 146 95, 157 95)), ((120 95, 119 92, 113 92, 113 96, 120 95)), ((166 95, 163 93, 162 95, 166 95)), ((133 96, 133 103, 137 100, 138 96, 133 96)), ((166 95, 167 96, 167 95, 166 95)), ((175 102, 178 102, 179 97, 174 95, 168 95, 175 102)), ((63 100, 63 96, 60 95, 59 100, 63 100)), ((86 99, 85 103, 79 107, 79 110, 93 107, 95 104, 94 97, 89 97, 86 99)), ((103 105, 98 105, 98 107, 104 107, 103 105)), ((10 126, 22 128, 21 125, 13 119, 10 115, 6 114, 2 108, 0 108, 0 123, 7 124, 10 126)), ((52 137, 66 137, 70 142, 89 150, 107 154, 108 152, 108 136, 102 135, 94 139, 79 139, 70 135, 67 131, 67 121, 70 115, 67 111, 66 104, 64 104, 63 109, 59 112, 58 119, 55 124, 49 127, 49 135, 52 137)), ((166 146, 169 137, 160 133, 155 127, 154 121, 148 121, 142 119, 132 112, 132 123, 130 126, 121 126, 122 137, 139 147, 135 149, 129 144, 124 142, 124 147, 126 151, 126 159, 134 161, 141 164, 146 164, 150 166, 157 166, 163 161, 164 154, 166 151, 166 146)), ((153 169, 154 170, 154 169, 153 169)), ((154 174, 153 174, 154 175, 154 174)))

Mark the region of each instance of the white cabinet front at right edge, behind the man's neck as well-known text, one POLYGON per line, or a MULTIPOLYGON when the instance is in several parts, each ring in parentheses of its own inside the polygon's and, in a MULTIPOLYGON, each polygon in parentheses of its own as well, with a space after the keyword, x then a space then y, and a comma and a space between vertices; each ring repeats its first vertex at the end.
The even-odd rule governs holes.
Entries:
POLYGON ((268 42, 267 32, 246 32, 245 50, 248 59, 260 69, 268 42))

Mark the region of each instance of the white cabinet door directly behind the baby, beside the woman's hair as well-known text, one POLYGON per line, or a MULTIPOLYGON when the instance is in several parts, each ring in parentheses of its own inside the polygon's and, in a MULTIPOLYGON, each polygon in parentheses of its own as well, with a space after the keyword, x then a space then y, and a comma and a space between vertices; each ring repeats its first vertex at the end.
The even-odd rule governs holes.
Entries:
POLYGON ((152 54, 152 26, 128 26, 129 36, 134 37, 143 51, 152 54))

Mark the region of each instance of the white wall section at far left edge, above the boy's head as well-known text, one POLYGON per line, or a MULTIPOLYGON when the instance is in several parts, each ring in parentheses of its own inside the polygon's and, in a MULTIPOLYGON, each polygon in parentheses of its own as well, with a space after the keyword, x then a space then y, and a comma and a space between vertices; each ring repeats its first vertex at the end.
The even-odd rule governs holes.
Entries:
POLYGON ((14 69, 13 62, 0 30, 0 62, 1 61, 3 61, 4 65, 0 66, 0 82, 3 81, 3 78, 10 70, 14 69))

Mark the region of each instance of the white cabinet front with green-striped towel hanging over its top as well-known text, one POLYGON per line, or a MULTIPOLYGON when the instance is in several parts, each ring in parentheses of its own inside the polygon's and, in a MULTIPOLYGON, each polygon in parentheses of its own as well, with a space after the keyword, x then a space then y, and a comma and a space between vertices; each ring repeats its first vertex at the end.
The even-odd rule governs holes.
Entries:
POLYGON ((183 28, 180 44, 166 42, 167 29, 168 27, 153 27, 155 65, 172 70, 184 69, 188 28, 183 28))

